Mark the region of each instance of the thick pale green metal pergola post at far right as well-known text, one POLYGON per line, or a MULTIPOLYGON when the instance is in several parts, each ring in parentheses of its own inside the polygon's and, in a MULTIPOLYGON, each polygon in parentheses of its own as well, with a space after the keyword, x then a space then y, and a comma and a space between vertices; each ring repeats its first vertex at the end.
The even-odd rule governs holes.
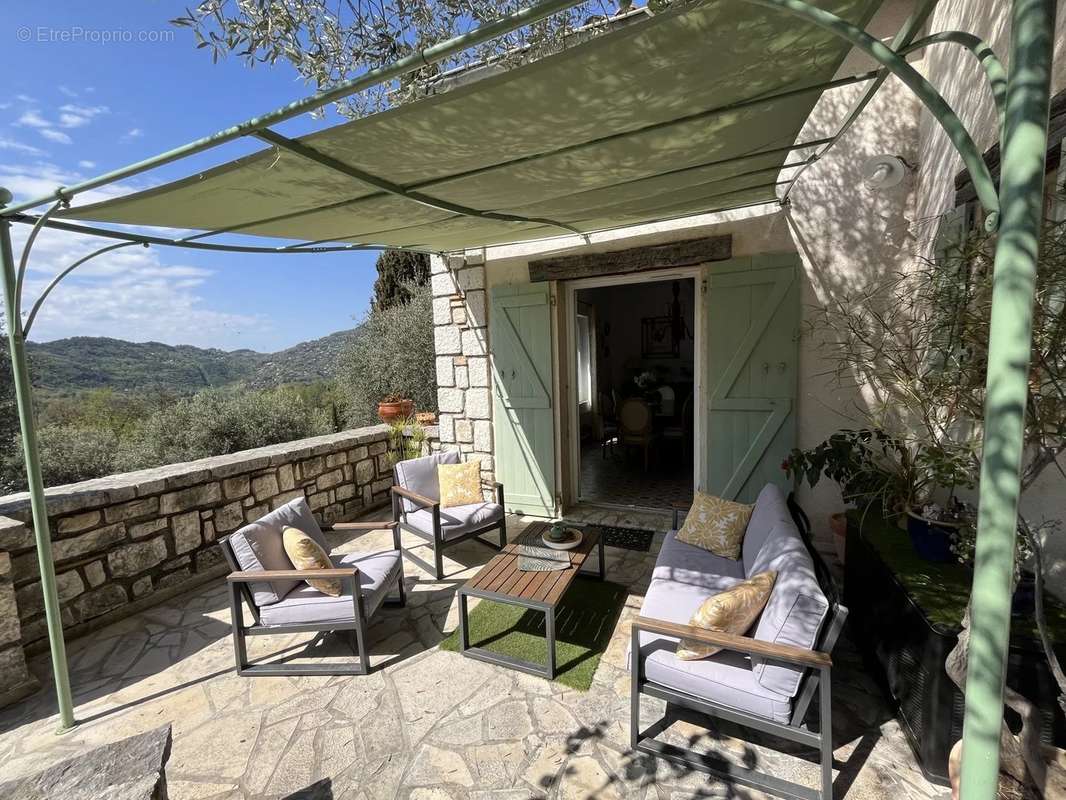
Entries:
POLYGON ((1013 0, 963 726, 965 800, 991 800, 999 787, 1054 18, 1053 0, 1013 0))

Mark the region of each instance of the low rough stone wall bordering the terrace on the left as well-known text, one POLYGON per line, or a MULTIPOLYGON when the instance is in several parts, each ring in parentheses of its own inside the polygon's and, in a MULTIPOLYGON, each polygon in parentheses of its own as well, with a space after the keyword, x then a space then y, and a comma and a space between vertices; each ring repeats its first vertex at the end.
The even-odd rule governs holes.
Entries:
MULTIPOLYGON (((222 574, 217 539, 294 497, 324 523, 387 502, 387 449, 388 428, 373 426, 49 489, 67 636, 222 574)), ((29 496, 0 497, 0 699, 46 637, 29 496)))

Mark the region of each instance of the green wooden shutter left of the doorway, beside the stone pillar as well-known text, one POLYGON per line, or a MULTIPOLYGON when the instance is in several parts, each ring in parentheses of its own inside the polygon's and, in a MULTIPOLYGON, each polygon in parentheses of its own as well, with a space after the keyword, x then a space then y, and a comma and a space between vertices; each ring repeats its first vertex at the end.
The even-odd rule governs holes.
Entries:
POLYGON ((489 349, 496 478, 503 483, 507 511, 552 516, 555 430, 547 287, 492 290, 489 349))

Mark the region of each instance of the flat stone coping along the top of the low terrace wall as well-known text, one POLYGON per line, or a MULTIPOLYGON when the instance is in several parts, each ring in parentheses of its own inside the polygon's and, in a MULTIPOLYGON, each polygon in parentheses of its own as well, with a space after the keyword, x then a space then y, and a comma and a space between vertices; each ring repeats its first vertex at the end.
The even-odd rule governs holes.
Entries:
MULTIPOLYGON (((437 435, 436 427, 427 426, 425 431, 431 438, 437 435)), ((51 486, 45 490, 48 513, 49 516, 53 516, 81 509, 99 508, 135 497, 157 495, 211 480, 254 473, 300 459, 326 455, 359 445, 381 442, 388 436, 388 426, 373 425, 253 450, 241 450, 226 455, 212 455, 196 461, 109 475, 80 483, 51 486)), ((0 516, 10 516, 21 522, 29 521, 29 492, 0 496, 0 516)))

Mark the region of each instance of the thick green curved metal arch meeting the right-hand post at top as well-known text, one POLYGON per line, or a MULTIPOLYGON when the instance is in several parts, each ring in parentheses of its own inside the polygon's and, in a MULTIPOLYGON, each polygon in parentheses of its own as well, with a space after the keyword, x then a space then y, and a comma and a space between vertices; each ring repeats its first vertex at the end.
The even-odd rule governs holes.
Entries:
POLYGON ((903 55, 861 28, 841 19, 836 14, 809 5, 804 0, 743 0, 743 2, 766 9, 777 9, 824 28, 834 35, 851 42, 852 45, 877 60, 886 69, 903 81, 907 89, 933 114, 948 134, 955 150, 962 156, 963 163, 966 164, 966 169, 969 170, 973 179, 978 199, 981 201, 987 214, 985 226, 989 230, 996 229, 999 225, 999 193, 996 190, 996 181, 992 180, 991 172, 978 149, 978 145, 958 115, 943 99, 943 96, 917 69, 910 66, 903 55))

